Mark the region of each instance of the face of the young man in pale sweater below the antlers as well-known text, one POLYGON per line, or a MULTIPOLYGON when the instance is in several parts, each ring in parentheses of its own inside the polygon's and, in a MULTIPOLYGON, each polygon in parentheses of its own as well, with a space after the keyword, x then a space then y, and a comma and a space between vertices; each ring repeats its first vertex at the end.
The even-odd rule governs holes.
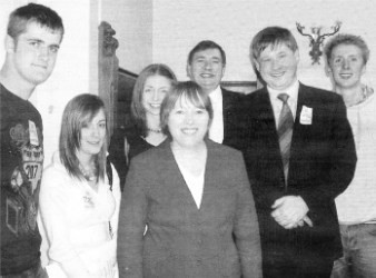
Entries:
POLYGON ((329 61, 336 87, 354 88, 360 85, 362 75, 366 71, 362 49, 353 44, 339 44, 332 51, 329 61))

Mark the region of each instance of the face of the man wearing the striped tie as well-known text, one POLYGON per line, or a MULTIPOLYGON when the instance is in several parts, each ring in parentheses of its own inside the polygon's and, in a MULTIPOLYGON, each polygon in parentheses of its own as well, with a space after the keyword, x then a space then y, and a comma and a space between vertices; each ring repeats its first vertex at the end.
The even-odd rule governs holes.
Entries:
POLYGON ((280 43, 271 49, 267 47, 256 61, 256 68, 264 81, 275 90, 285 90, 297 80, 296 71, 299 62, 299 52, 280 43))

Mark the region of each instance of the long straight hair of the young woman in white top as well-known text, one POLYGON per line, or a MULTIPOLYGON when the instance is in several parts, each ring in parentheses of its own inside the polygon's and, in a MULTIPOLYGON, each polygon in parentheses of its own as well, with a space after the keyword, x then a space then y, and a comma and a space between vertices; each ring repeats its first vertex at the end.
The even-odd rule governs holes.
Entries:
MULTIPOLYGON (((62 113, 60 131, 60 161, 71 177, 83 180, 85 177, 79 169, 77 151, 81 147, 81 129, 89 125, 98 112, 103 111, 107 121, 107 113, 103 101, 95 95, 82 93, 71 99, 62 113)), ((106 137, 103 146, 95 156, 97 167, 97 179, 103 179, 106 172, 108 128, 106 125, 106 137)))

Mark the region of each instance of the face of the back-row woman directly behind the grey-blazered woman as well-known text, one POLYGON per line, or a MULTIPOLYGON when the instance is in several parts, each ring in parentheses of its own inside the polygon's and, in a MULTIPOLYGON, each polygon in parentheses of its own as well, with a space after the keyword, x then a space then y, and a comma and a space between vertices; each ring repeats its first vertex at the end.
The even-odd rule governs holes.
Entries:
POLYGON ((150 115, 159 116, 160 105, 170 88, 171 81, 166 77, 149 77, 145 82, 142 91, 142 106, 145 110, 150 115))

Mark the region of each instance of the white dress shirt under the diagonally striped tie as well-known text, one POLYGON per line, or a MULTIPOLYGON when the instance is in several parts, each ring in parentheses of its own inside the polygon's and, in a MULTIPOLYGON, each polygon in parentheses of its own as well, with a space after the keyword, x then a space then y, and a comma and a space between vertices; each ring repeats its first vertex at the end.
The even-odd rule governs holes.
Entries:
POLYGON ((274 112, 274 118, 276 119, 276 128, 278 129, 278 123, 279 123, 279 116, 280 116, 280 111, 283 109, 284 102, 278 99, 278 95, 279 93, 287 93, 289 96, 287 103, 293 112, 293 117, 294 117, 294 121, 296 119, 296 109, 298 106, 298 91, 299 91, 299 81, 296 80, 289 88, 287 88, 286 90, 283 91, 278 91, 275 89, 271 89, 268 86, 268 92, 269 92, 269 97, 270 97, 270 102, 271 102, 271 107, 273 107, 273 112, 274 112))

